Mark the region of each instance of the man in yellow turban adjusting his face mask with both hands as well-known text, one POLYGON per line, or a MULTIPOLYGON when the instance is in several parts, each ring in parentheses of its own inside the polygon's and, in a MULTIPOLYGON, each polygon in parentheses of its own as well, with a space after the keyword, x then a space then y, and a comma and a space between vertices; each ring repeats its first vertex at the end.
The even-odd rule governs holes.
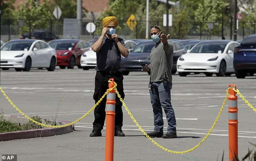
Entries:
MULTIPOLYGON (((118 38, 116 27, 118 21, 115 16, 105 17, 102 21, 103 29, 100 37, 94 37, 92 50, 96 52, 97 66, 95 76, 95 88, 93 99, 95 103, 108 89, 109 78, 114 78, 117 83, 117 90, 124 99, 123 75, 120 72, 121 55, 127 57, 128 49, 125 47, 124 40, 118 38)), ((106 98, 94 109, 93 130, 90 137, 102 136, 106 117, 106 98)), ((123 111, 122 102, 116 95, 116 115, 115 115, 115 136, 125 136, 122 131, 123 111)))

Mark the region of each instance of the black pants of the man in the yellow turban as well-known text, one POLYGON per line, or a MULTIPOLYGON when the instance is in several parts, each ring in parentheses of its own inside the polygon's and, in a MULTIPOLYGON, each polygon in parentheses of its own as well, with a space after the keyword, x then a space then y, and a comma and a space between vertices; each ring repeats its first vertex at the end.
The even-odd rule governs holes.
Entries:
MULTIPOLYGON (((97 72, 95 76, 95 88, 93 99, 95 103, 100 100, 102 95, 108 89, 108 80, 109 78, 114 78, 114 81, 117 84, 117 91, 124 99, 124 85, 123 80, 124 77, 121 72, 115 74, 105 74, 102 72, 97 72)), ((106 101, 107 96, 100 102, 100 104, 94 109, 94 122, 93 122, 93 129, 102 130, 105 122, 106 117, 106 101)), ((116 115, 115 115, 115 127, 122 127, 123 126, 123 111, 122 111, 122 102, 117 97, 116 94, 116 115)))

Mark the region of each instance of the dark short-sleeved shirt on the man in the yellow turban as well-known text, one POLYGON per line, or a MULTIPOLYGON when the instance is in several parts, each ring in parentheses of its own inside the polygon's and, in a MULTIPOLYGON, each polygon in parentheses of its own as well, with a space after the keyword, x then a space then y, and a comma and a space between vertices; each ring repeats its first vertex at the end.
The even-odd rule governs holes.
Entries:
MULTIPOLYGON (((94 44, 99 37, 94 37, 92 44, 94 44)), ((125 47, 124 40, 118 38, 119 42, 125 47)), ((97 56, 97 71, 109 72, 120 71, 121 53, 117 47, 115 40, 108 39, 104 36, 102 46, 96 53, 97 56)))

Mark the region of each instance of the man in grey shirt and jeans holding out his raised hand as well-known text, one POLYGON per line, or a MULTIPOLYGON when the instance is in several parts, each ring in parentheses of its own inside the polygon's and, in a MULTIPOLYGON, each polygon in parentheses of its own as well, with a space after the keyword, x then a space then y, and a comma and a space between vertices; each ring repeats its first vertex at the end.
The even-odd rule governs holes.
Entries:
POLYGON ((156 43, 151 50, 150 65, 143 66, 145 72, 150 71, 149 93, 154 114, 154 131, 147 133, 150 137, 175 138, 176 119, 171 103, 173 47, 168 44, 170 35, 162 34, 159 26, 150 28, 151 39, 156 43), (167 133, 164 134, 163 112, 168 122, 167 133))

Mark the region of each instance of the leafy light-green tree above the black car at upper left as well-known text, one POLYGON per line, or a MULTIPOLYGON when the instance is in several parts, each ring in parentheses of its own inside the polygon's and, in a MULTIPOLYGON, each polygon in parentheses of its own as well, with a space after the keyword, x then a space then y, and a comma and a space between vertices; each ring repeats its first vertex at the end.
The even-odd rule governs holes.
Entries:
POLYGON ((52 13, 47 9, 47 1, 38 4, 34 0, 28 0, 26 3, 20 3, 19 9, 15 13, 17 19, 23 19, 24 25, 21 26, 20 32, 29 32, 35 29, 45 29, 49 27, 49 19, 52 13))

